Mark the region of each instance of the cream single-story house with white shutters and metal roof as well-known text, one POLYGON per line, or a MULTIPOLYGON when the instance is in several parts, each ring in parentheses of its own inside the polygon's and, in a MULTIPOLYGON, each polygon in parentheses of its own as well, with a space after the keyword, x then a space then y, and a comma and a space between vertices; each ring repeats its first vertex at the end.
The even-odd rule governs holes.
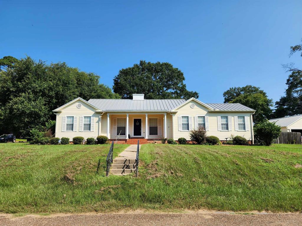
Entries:
MULTIPOLYGON (((226 140, 232 134, 253 143, 255 110, 238 103, 205 104, 195 98, 144 99, 144 94, 133 94, 133 99, 90 99, 78 97, 53 110, 56 114, 56 137, 76 136, 129 142, 128 139, 185 137, 190 130, 204 127, 207 135, 226 140)), ((137 142, 137 141, 136 141, 137 142)))

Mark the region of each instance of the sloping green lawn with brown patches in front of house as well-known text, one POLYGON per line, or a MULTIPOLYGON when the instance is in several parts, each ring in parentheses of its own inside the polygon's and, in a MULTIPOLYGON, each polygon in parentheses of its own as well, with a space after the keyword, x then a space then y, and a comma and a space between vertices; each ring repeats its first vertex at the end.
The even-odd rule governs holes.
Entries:
MULTIPOLYGON (((114 155, 126 147, 115 145, 114 155)), ((143 145, 138 178, 105 177, 108 150, 0 144, 0 212, 302 211, 299 145, 143 145)))

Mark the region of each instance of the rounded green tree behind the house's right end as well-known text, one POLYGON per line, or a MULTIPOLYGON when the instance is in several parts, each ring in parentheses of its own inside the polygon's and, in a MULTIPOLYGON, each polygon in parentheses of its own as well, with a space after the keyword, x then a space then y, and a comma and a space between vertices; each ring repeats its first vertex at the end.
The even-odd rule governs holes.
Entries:
POLYGON ((272 113, 272 99, 268 99, 266 93, 256 86, 232 87, 223 93, 223 97, 224 103, 240 103, 256 110, 253 115, 255 123, 268 118, 272 113))

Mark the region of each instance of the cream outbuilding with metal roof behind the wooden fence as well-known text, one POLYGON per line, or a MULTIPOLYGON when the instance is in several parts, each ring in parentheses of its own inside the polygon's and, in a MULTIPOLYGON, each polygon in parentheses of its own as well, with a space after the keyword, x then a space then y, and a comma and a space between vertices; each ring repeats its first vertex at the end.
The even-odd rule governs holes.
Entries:
POLYGON ((268 121, 275 122, 276 125, 281 127, 282 132, 298 132, 302 134, 302 114, 284 118, 274 118, 268 121))

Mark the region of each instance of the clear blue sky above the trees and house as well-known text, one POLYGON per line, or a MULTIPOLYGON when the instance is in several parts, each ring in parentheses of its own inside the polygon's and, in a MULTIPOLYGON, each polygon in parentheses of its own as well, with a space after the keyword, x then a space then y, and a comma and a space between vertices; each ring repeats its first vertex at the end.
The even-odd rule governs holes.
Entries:
POLYGON ((0 58, 26 55, 101 76, 169 62, 203 102, 223 102, 232 86, 283 95, 281 64, 302 67, 290 46, 302 38, 302 1, 1 1, 0 58))

